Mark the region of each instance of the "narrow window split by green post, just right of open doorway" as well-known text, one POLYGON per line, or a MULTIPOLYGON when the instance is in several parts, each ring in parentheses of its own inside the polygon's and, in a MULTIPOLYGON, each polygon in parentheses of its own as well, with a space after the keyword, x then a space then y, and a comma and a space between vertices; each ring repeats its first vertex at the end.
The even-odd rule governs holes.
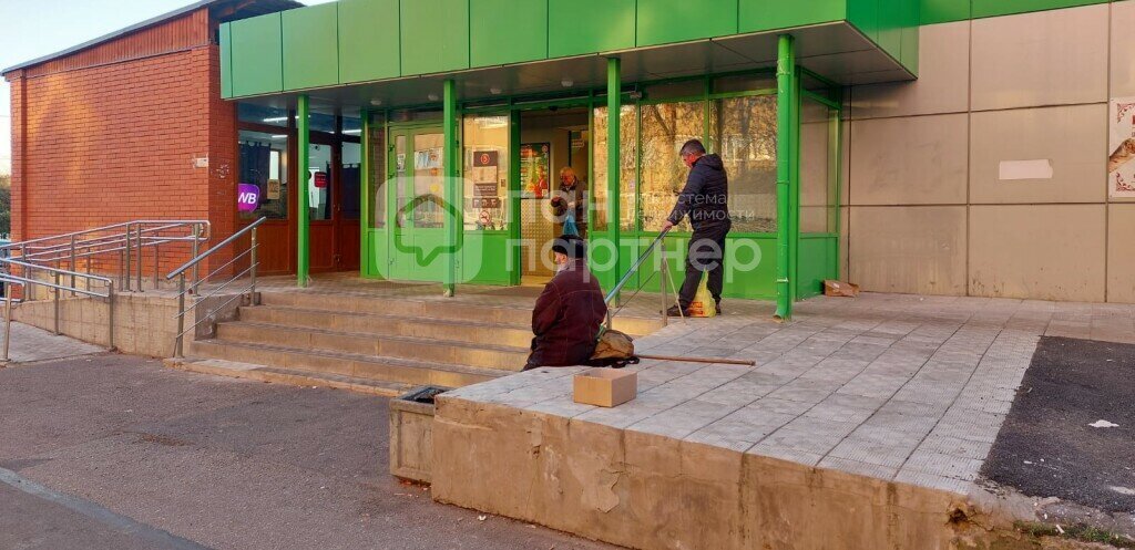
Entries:
MULTIPOLYGON (((634 229, 634 193, 638 188, 638 125, 634 105, 623 105, 619 113, 619 218, 620 227, 634 229)), ((591 171, 591 189, 595 196, 595 229, 607 229, 607 108, 595 109, 595 128, 591 171)))

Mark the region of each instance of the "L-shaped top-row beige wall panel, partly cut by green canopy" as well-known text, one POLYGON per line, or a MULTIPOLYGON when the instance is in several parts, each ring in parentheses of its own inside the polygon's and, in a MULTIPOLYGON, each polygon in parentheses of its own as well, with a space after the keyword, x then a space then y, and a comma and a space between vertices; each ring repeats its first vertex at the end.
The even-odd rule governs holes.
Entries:
POLYGON ((969 22, 922 27, 918 79, 851 88, 851 118, 962 112, 969 108, 969 22))

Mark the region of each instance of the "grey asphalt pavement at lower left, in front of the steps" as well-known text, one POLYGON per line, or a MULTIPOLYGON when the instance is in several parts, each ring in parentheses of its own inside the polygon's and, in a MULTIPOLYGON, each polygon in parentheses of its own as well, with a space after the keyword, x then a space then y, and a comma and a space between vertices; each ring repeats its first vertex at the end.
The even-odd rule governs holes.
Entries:
POLYGON ((95 355, 0 370, 0 549, 609 549, 387 472, 387 400, 95 355))

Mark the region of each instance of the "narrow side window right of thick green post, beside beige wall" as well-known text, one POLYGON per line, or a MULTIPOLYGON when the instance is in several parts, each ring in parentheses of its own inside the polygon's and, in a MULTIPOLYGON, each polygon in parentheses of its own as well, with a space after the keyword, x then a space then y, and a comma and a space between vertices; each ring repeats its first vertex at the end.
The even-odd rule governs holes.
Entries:
POLYGON ((832 154, 839 121, 827 105, 805 99, 800 110, 800 232, 836 232, 832 154))

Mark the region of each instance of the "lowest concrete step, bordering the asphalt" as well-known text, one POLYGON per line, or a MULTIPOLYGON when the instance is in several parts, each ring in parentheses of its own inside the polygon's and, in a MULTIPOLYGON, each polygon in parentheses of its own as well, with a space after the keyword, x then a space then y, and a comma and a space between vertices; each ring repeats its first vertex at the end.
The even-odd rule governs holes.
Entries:
POLYGON ((335 388, 372 396, 397 397, 413 388, 413 386, 402 382, 386 382, 343 374, 294 371, 224 359, 170 358, 166 359, 165 363, 166 366, 179 371, 289 386, 318 386, 320 388, 335 388))

